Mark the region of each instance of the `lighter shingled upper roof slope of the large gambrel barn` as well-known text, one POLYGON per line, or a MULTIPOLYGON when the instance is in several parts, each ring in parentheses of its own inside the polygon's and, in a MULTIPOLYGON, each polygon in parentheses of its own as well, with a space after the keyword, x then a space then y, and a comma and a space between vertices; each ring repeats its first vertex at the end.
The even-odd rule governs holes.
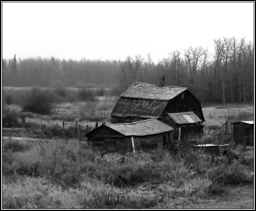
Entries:
POLYGON ((135 82, 122 93, 121 97, 166 101, 173 99, 186 89, 185 87, 160 87, 160 85, 135 82))

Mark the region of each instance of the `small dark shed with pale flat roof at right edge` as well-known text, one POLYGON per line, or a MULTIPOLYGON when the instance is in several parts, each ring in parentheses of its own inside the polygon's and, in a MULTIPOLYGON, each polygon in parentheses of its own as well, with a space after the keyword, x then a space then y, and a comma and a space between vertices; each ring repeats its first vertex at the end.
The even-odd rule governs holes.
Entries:
POLYGON ((243 144, 246 139, 246 145, 254 145, 254 121, 233 122, 234 142, 243 144))

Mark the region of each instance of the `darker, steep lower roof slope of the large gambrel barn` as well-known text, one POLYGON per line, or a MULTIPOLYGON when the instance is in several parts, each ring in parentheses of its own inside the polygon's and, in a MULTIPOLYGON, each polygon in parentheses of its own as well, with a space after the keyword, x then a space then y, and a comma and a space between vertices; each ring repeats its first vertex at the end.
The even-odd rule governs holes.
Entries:
POLYGON ((118 99, 110 116, 158 118, 168 101, 142 101, 118 99))

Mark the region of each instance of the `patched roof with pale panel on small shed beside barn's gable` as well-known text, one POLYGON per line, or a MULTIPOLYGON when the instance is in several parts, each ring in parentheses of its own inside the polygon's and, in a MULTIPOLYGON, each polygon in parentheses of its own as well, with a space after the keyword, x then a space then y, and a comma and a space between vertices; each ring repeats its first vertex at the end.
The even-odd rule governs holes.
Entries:
POLYGON ((170 116, 170 118, 172 118, 177 124, 195 124, 197 122, 202 122, 202 120, 192 111, 182 113, 169 113, 166 115, 170 116))

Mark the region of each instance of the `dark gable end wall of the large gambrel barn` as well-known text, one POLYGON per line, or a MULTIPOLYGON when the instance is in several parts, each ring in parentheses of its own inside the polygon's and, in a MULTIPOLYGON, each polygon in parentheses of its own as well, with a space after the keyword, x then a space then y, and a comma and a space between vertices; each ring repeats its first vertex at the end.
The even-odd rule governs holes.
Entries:
POLYGON ((205 121, 200 103, 186 90, 169 101, 164 110, 164 115, 189 111, 193 111, 202 121, 205 121))

